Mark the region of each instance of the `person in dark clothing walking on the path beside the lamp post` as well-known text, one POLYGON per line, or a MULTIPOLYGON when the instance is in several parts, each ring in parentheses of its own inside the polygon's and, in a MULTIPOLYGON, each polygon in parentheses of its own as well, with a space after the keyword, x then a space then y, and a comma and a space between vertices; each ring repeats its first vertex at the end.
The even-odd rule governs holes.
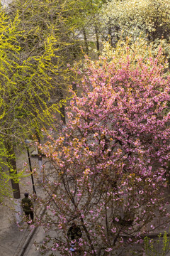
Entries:
POLYGON ((24 213, 26 214, 26 219, 29 220, 30 216, 31 220, 33 221, 33 203, 30 200, 30 198, 28 198, 28 193, 25 193, 24 196, 25 198, 22 199, 21 206, 23 208, 24 213))

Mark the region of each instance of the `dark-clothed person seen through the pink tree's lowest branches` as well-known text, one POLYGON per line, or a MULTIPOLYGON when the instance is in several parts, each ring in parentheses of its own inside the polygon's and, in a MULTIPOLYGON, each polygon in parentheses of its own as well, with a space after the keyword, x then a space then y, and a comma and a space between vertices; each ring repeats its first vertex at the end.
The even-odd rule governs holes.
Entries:
POLYGON ((72 240, 70 251, 74 252, 75 242, 79 242, 79 239, 82 236, 81 229, 76 225, 76 223, 72 223, 72 226, 68 230, 67 236, 72 240))

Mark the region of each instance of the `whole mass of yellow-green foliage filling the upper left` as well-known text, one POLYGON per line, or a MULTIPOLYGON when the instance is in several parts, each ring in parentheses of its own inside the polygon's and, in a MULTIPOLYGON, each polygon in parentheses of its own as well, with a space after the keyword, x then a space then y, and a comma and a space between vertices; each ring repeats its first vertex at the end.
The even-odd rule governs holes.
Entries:
POLYGON ((97 4, 101 1, 15 0, 8 15, 0 10, 0 142, 6 149, 8 139, 11 152, 2 155, 10 173, 15 174, 13 144, 52 124, 69 97, 76 78, 67 65, 81 58, 79 28, 97 4))

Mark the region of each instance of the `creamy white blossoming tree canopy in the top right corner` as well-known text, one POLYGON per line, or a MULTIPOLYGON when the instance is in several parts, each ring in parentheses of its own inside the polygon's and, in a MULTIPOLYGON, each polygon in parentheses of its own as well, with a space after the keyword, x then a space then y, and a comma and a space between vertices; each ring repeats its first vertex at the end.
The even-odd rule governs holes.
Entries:
POLYGON ((169 42, 168 0, 111 0, 103 5, 101 14, 101 26, 110 31, 113 43, 126 36, 143 36, 155 43, 164 38, 169 42))

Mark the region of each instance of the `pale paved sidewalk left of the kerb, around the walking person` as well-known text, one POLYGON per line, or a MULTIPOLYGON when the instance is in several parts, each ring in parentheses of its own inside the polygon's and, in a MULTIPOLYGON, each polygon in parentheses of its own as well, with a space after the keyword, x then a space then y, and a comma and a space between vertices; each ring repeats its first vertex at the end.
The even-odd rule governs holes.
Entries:
MULTIPOLYGON (((31 157, 30 160, 32 168, 38 169, 38 159, 35 157, 31 157)), ((26 161, 28 162, 27 154, 21 154, 17 159, 17 169, 22 170, 23 164, 26 161)), ((36 183, 36 180, 35 190, 37 192, 37 196, 40 197, 41 188, 36 183)), ((20 191, 21 198, 24 197, 24 193, 26 191, 30 194, 33 192, 33 186, 30 176, 22 178, 20 183, 20 191)), ((11 198, 12 197, 13 196, 11 195, 11 198)), ((5 203, 6 206, 0 204, 0 256, 19 256, 19 253, 21 252, 24 243, 28 239, 30 230, 27 226, 25 226, 22 231, 20 230, 20 228, 18 228, 18 226, 16 225, 16 217, 13 210, 13 201, 7 199, 5 203)), ((33 204, 34 206, 36 206, 35 202, 33 202, 33 204)))

